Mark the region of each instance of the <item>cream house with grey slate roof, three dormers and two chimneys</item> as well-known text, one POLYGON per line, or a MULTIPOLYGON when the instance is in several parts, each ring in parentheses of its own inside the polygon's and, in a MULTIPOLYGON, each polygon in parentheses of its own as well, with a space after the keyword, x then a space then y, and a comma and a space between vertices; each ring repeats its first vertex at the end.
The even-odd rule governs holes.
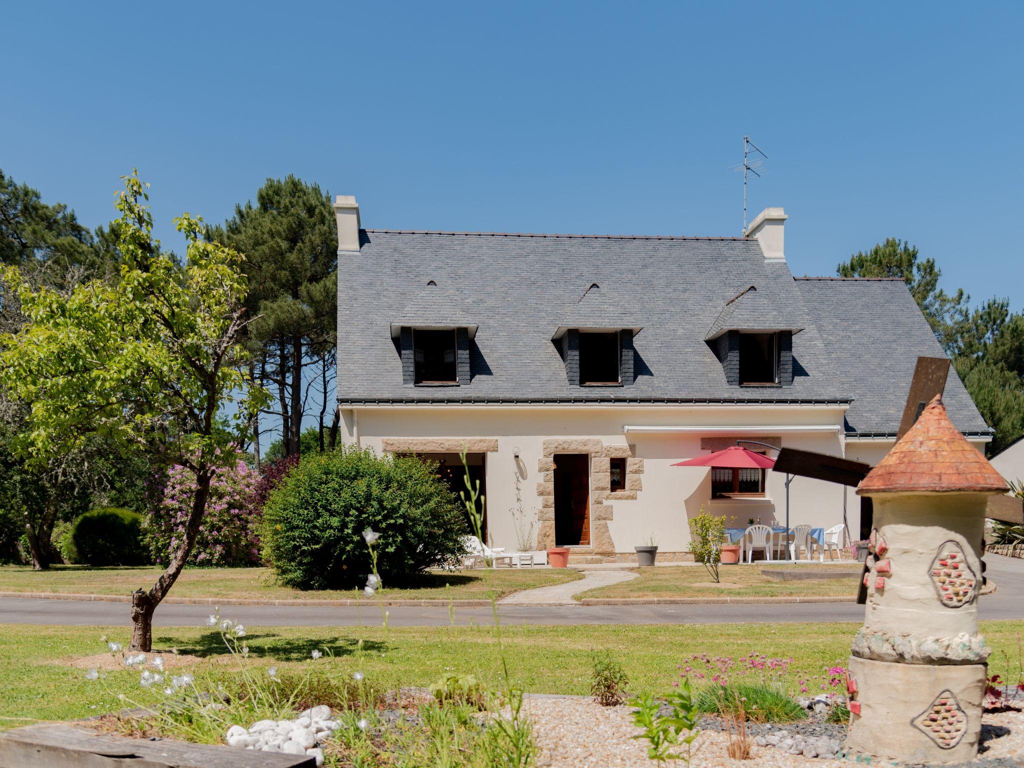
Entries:
MULTIPOLYGON (((342 438, 457 453, 514 549, 682 559, 701 508, 781 522, 784 477, 673 463, 755 440, 869 464, 893 444, 919 355, 942 349, 899 280, 795 278, 781 208, 741 238, 364 229, 338 219, 342 438), (534 546, 532 542, 527 543, 534 546)), ((945 402, 979 449, 964 385, 945 402)), ((853 489, 799 477, 791 524, 848 522, 853 489)))

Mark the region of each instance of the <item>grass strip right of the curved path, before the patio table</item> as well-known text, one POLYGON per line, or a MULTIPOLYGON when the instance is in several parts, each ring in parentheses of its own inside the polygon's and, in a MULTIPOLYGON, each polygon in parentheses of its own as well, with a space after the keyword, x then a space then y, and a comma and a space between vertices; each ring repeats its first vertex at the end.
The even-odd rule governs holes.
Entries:
MULTIPOLYGON (((856 597, 857 577, 783 582, 761 573, 762 568, 786 569, 785 566, 723 565, 719 571, 722 583, 712 583, 711 575, 700 565, 637 568, 639 578, 610 587, 584 592, 577 599, 588 597, 856 597)), ((791 565, 787 569, 850 570, 858 564, 791 565)))

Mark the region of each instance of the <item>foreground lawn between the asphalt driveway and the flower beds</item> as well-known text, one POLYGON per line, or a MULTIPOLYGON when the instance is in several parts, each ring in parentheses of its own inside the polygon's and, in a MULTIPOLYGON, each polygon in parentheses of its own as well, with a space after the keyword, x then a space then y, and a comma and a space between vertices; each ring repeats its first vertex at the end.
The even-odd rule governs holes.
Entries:
MULTIPOLYGON (((229 611, 222 612, 230 615, 229 611)), ((774 628, 766 624, 524 626, 503 630, 503 643, 511 675, 532 692, 588 693, 592 655, 605 649, 625 668, 631 693, 668 692, 678 679, 677 665, 693 664, 692 654, 738 658, 752 652, 792 657, 788 672, 780 680, 797 692, 800 679, 807 680, 814 690, 825 668, 846 666, 850 641, 858 627, 856 623, 784 624, 774 628)), ((990 672, 1016 680, 1024 622, 982 622, 981 632, 993 647, 990 672)), ((103 635, 127 644, 129 630, 0 627, 0 727, 24 724, 17 718, 88 717, 122 709, 118 692, 142 695, 137 671, 112 672, 101 681, 85 680, 85 668, 103 658, 85 658, 105 650, 100 640, 103 635)), ((280 674, 312 666, 318 674, 347 680, 358 670, 377 687, 426 685, 453 670, 493 684, 499 672, 494 632, 481 626, 376 627, 361 631, 249 627, 245 639, 254 665, 276 664, 280 674), (356 648, 360 637, 361 653, 356 648), (334 659, 330 655, 310 659, 310 651, 317 646, 329 648, 334 659)), ((219 635, 206 629, 158 628, 154 647, 177 648, 181 654, 188 654, 181 657, 186 666, 169 668, 175 674, 183 669, 225 679, 236 674, 230 663, 225 663, 219 635)))

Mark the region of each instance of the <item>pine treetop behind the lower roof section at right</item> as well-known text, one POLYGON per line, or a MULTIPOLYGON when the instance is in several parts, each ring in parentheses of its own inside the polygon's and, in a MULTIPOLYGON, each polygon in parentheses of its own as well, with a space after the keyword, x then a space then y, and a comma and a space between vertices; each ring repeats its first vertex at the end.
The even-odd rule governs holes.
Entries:
POLYGON ((918 247, 898 238, 886 238, 867 253, 858 251, 836 267, 841 278, 901 278, 910 289, 932 332, 949 351, 955 344, 959 327, 967 317, 971 297, 958 289, 950 295, 939 288, 942 270, 935 259, 918 260, 918 247))

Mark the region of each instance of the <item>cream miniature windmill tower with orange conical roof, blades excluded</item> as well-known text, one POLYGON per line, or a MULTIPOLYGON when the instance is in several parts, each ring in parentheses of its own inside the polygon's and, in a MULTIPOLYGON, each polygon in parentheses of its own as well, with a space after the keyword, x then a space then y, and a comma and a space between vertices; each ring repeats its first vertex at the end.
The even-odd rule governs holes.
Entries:
POLYGON ((938 395, 858 486, 873 501, 874 529, 850 658, 851 753, 929 764, 977 755, 985 508, 1008 489, 938 395))

